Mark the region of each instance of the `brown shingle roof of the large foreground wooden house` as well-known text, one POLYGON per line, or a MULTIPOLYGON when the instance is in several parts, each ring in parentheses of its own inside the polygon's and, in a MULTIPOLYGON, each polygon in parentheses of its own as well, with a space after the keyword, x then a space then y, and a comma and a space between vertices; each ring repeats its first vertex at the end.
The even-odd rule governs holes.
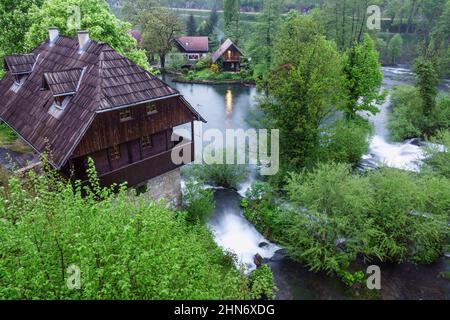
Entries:
POLYGON ((47 40, 32 55, 6 57, 11 72, 0 81, 1 120, 38 152, 49 147, 57 168, 65 164, 97 112, 179 95, 104 43, 91 41, 84 53, 78 51, 77 38, 60 36, 54 46, 47 40), (10 90, 14 73, 29 72, 33 57, 32 73, 20 89, 10 90), (50 90, 41 90, 43 82, 50 90), (77 93, 63 116, 53 117, 53 95, 73 90, 75 83, 77 93))

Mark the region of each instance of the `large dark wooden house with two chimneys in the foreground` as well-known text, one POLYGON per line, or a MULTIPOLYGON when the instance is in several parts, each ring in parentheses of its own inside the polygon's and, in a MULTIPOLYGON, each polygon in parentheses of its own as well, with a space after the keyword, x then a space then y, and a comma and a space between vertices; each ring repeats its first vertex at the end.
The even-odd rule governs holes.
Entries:
POLYGON ((104 186, 178 194, 182 164, 171 154, 192 151, 194 141, 172 141, 173 129, 193 130, 204 119, 177 90, 87 32, 72 38, 52 28, 31 54, 5 57, 4 67, 0 119, 36 152, 49 149, 63 176, 85 181, 92 158, 104 186))

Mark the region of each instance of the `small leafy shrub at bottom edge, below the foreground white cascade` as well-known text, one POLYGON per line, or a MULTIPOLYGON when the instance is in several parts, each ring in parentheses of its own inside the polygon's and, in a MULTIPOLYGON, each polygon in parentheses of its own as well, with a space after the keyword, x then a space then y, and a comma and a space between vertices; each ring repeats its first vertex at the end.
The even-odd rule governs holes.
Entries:
POLYGON ((275 299, 275 281, 269 266, 262 265, 250 275, 250 292, 252 300, 275 299))

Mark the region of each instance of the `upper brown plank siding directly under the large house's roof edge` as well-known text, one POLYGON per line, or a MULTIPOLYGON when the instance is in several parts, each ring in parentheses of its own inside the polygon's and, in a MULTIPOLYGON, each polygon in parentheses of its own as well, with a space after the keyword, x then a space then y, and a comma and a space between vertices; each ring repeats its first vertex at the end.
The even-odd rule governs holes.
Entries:
MULTIPOLYGON (((140 139, 192 122, 195 116, 180 98, 157 101, 157 113, 147 114, 146 104, 131 107, 132 119, 121 122, 120 110, 100 113, 88 129, 72 158, 140 139)), ((164 141, 165 143, 165 141, 164 141)))

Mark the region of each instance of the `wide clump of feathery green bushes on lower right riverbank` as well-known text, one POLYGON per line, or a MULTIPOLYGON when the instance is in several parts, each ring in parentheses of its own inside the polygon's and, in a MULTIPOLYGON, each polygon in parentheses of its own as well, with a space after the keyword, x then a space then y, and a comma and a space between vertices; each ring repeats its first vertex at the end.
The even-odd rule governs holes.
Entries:
POLYGON ((366 176, 338 164, 292 174, 283 244, 312 270, 342 274, 367 260, 435 261, 448 234, 450 181, 383 168, 366 176))

